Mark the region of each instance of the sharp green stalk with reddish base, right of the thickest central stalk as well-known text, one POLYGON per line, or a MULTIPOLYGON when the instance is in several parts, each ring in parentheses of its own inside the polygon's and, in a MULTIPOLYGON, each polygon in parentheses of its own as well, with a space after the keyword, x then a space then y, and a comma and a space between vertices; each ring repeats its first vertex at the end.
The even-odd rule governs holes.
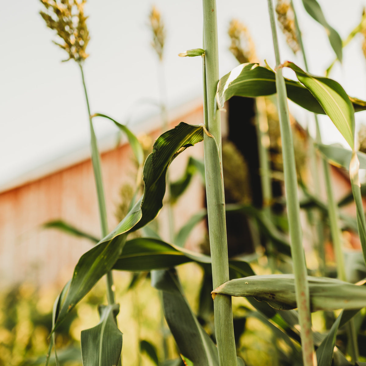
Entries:
POLYGON ((268 11, 272 29, 273 46, 276 55, 276 88, 280 130, 282 140, 283 171, 287 198, 287 216, 291 239, 291 255, 294 263, 296 303, 301 327, 301 344, 304 366, 316 365, 313 336, 311 331, 310 295, 307 282, 305 253, 302 246, 302 229, 300 223, 300 206, 295 166, 294 143, 292 140, 290 119, 287 107, 287 92, 282 75, 280 50, 277 40, 275 12, 272 0, 268 0, 268 11))

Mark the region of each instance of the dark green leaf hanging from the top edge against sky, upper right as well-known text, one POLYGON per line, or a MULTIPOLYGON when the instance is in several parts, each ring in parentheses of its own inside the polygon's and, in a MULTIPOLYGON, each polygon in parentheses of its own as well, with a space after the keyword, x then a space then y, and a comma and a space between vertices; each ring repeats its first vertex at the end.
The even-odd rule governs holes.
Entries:
POLYGON ((320 23, 326 30, 330 45, 332 46, 337 58, 342 62, 342 40, 337 31, 326 21, 320 5, 316 0, 302 0, 305 10, 309 15, 320 23))

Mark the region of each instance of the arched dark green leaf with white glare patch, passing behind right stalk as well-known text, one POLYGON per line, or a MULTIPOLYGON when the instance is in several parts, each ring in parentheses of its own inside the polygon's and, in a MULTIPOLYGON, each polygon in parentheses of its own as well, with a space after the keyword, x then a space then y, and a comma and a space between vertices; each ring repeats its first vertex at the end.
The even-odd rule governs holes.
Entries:
MULTIPOLYGON (((310 112, 326 114, 317 98, 301 83, 285 79, 287 97, 310 112)), ((256 98, 276 93, 276 75, 268 68, 258 64, 241 64, 224 75, 217 85, 216 100, 219 108, 233 96, 256 98)), ((350 98, 355 111, 364 111, 366 102, 350 98)))

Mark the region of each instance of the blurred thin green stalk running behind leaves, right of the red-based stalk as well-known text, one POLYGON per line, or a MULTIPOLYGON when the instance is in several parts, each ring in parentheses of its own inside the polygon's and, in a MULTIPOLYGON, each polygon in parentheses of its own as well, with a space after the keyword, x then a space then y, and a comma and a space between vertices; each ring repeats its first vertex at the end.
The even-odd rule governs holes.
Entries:
MULTIPOLYGON (((301 31, 300 31, 299 23, 298 23, 297 16, 296 16, 296 11, 295 11, 292 0, 291 0, 291 7, 292 7, 292 10, 294 11, 296 36, 298 37, 305 70, 306 70, 306 72, 309 72, 309 67, 307 64, 307 57, 306 57, 305 49, 304 49, 303 42, 302 42, 301 31)), ((317 143, 321 143, 321 133, 320 133, 318 116, 316 114, 314 114, 314 118, 315 118, 315 128, 316 128, 316 138, 315 139, 316 139, 317 143)), ((330 166, 325 158, 322 158, 322 164, 323 164, 323 171, 324 171, 324 178, 325 178, 325 190, 326 190, 326 195, 328 198, 328 216, 329 216, 330 234, 332 237, 333 248, 335 251, 337 275, 340 280, 347 281, 346 270, 345 270, 345 265, 344 265, 344 256, 343 256, 343 251, 342 251, 342 235, 341 235, 341 229, 339 227, 339 222, 338 222, 339 212, 338 212, 338 206, 336 204, 334 194, 333 194, 333 189, 332 189, 332 182, 331 182, 331 177, 330 177, 330 166)), ((353 318, 347 323, 346 329, 347 329, 347 336, 350 341, 349 342, 350 354, 351 354, 352 362, 354 363, 357 361, 357 359, 359 357, 359 351, 358 351, 357 335, 355 332, 355 324, 354 324, 353 318)))

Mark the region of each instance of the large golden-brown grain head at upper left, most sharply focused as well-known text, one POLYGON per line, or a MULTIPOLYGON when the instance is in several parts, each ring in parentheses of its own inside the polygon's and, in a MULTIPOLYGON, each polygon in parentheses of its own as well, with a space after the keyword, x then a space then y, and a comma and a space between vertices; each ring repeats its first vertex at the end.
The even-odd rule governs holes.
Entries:
POLYGON ((89 31, 84 15, 86 0, 40 0, 46 11, 40 11, 46 25, 57 32, 63 42, 56 45, 68 53, 68 61, 74 59, 82 62, 89 55, 86 46, 89 42, 89 31))

